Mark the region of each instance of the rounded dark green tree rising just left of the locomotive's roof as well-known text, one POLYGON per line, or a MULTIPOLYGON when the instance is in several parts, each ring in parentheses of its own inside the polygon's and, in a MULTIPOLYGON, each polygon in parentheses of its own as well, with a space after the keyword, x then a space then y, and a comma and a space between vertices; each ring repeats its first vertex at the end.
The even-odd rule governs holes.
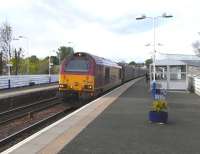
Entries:
POLYGON ((61 46, 58 48, 57 56, 60 59, 60 62, 66 57, 71 56, 74 53, 74 49, 72 47, 61 46))

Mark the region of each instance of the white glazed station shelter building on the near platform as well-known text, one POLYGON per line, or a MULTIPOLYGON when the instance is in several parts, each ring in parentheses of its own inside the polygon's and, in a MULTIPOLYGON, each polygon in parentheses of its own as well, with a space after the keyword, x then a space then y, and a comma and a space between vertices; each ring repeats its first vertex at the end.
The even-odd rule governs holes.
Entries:
MULTIPOLYGON (((156 83, 167 90, 189 90, 192 77, 200 75, 200 57, 195 55, 165 54, 156 59, 156 83)), ((150 65, 150 83, 153 65, 150 65)))

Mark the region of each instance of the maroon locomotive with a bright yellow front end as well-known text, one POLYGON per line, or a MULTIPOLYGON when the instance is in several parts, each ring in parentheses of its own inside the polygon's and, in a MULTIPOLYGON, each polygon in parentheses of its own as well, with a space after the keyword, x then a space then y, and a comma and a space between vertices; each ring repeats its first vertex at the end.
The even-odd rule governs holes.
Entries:
POLYGON ((60 68, 59 92, 89 98, 109 90, 122 81, 122 67, 110 60, 78 52, 64 60, 60 68))

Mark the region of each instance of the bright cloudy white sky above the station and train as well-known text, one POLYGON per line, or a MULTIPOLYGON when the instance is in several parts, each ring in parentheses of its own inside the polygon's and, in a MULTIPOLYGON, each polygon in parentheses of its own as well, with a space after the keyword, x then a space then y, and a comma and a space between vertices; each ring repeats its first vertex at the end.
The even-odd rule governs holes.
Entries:
POLYGON ((156 20, 156 44, 162 44, 156 50, 194 54, 199 6, 198 0, 0 0, 0 22, 12 26, 13 37, 28 38, 12 45, 26 50, 29 42, 29 55, 53 55, 64 45, 115 61, 142 62, 153 51, 153 25, 136 17, 173 15, 156 20))

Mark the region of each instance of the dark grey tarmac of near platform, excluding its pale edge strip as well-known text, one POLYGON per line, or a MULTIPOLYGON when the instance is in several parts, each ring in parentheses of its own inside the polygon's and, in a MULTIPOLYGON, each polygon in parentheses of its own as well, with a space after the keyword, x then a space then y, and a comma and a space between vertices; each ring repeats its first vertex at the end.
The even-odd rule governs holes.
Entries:
POLYGON ((151 96, 138 81, 103 111, 60 154, 199 154, 200 97, 168 93, 169 123, 148 121, 151 96))

